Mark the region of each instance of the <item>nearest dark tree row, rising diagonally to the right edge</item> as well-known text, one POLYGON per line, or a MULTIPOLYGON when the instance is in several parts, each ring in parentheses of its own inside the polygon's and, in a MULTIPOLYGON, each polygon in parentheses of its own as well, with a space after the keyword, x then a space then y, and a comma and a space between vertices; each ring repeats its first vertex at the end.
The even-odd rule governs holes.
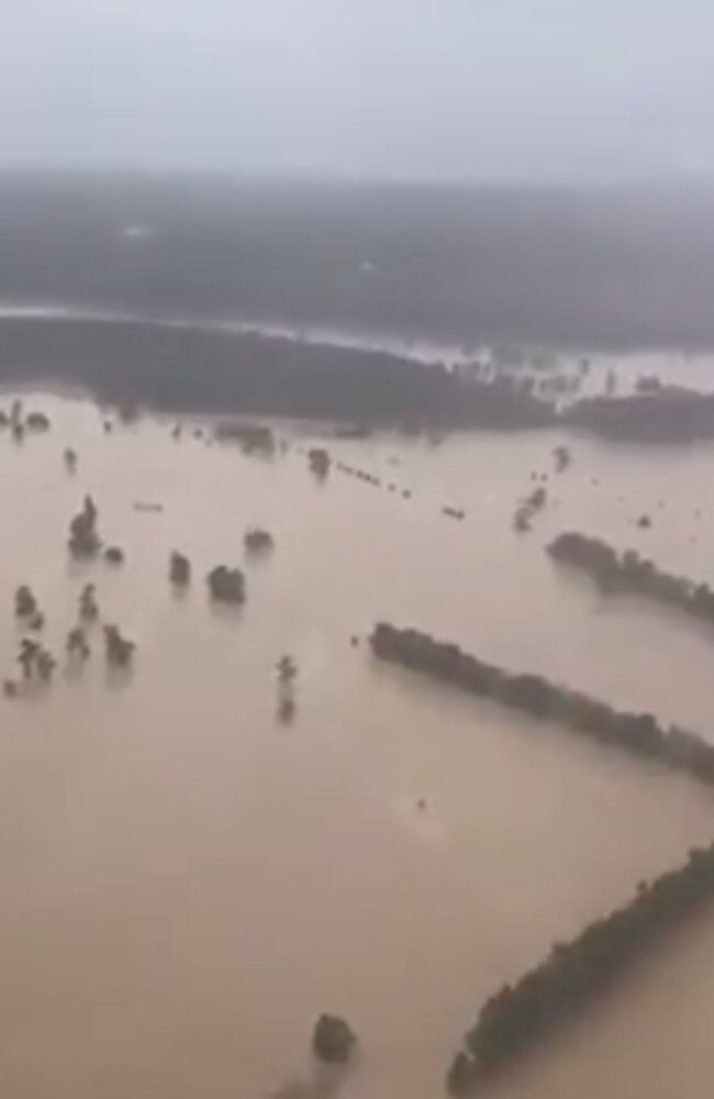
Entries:
POLYGON ((566 1025, 712 899, 714 845, 691 851, 683 866, 640 885, 628 904, 589 924, 572 942, 554 946, 544 962, 483 1004, 448 1070, 450 1094, 478 1089, 566 1025))

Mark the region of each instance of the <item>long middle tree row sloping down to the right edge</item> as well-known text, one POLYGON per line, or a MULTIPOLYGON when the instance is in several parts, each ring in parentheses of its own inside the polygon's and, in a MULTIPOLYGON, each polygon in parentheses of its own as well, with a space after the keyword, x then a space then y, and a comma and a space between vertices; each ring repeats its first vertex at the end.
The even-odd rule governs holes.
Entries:
POLYGON ((621 712, 542 676, 506 671, 419 630, 381 622, 375 626, 370 643, 382 660, 533 718, 556 721, 602 744, 687 771, 703 782, 714 782, 714 744, 677 726, 665 729, 649 713, 621 712))

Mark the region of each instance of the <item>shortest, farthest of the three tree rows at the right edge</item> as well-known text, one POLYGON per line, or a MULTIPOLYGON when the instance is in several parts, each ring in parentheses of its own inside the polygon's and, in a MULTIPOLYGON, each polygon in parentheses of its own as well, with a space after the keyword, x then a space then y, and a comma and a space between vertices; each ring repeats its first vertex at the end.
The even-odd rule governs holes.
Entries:
POLYGON ((635 550, 618 553, 601 539, 566 531, 550 543, 548 553, 554 560, 589 573, 607 595, 648 596, 714 622, 714 591, 707 584, 665 573, 635 550))

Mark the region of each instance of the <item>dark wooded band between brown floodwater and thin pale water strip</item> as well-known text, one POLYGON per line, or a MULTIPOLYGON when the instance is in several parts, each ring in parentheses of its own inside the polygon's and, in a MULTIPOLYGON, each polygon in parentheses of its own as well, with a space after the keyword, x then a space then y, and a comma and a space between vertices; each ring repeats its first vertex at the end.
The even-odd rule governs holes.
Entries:
MULTIPOLYGON (((146 407, 358 421, 362 428, 516 431, 560 424, 650 442, 714 437, 714 396, 693 390, 585 399, 558 411, 517 380, 465 378, 438 363, 367 348, 150 319, 2 318, 0 382, 47 377, 81 386, 118 406, 124 418, 146 407)), ((270 442, 265 429, 236 432, 225 421, 216 434, 248 451, 270 442)))

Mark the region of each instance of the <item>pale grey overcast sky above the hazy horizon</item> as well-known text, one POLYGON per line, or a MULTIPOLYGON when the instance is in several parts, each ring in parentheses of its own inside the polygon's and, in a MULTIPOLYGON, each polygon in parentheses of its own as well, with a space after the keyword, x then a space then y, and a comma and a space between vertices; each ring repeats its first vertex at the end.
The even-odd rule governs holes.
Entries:
POLYGON ((3 0, 0 158, 598 182, 714 171, 714 0, 3 0))

